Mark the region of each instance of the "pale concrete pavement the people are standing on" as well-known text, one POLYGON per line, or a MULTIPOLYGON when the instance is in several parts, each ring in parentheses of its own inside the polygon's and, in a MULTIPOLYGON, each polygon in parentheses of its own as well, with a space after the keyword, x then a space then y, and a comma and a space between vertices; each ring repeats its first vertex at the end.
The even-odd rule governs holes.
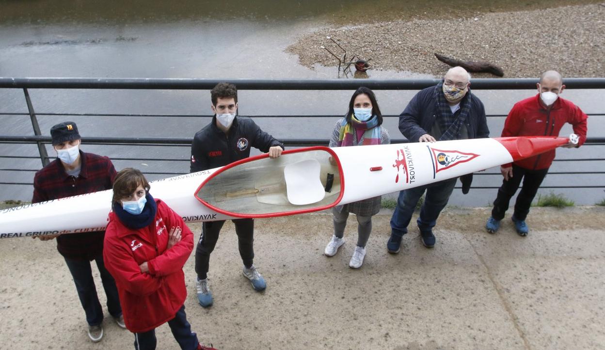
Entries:
MULTIPOLYGON (((411 228, 401 252, 391 255, 390 212, 383 211, 373 219, 359 270, 348 267, 354 217, 332 258, 323 255, 332 216, 257 220, 255 265, 267 280, 264 293, 241 276, 227 222, 211 258, 214 306, 197 305, 192 255, 185 265, 186 312, 200 340, 223 350, 600 349, 604 214, 603 207, 535 208, 522 238, 508 216, 489 235, 488 209, 448 208, 435 230, 436 247, 423 247, 411 228)), ((190 226, 197 238, 200 224, 190 226)), ((110 318, 102 342, 88 340, 54 242, 2 239, 0 256, 0 349, 132 348, 134 337, 110 318)), ((100 298, 104 303, 102 291, 100 298)), ((178 348, 168 326, 157 337, 158 349, 178 348)))

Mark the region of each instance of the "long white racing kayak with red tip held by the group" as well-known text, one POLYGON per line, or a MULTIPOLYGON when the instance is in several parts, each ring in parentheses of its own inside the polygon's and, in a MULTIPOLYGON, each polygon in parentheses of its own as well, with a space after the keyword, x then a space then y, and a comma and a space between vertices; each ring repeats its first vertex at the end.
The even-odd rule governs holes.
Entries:
MULTIPOLYGON (((304 147, 151 181, 149 192, 185 222, 317 212, 456 178, 568 144, 564 137, 504 137, 375 146, 304 147)), ((105 229, 111 190, 0 210, 0 238, 105 229)))

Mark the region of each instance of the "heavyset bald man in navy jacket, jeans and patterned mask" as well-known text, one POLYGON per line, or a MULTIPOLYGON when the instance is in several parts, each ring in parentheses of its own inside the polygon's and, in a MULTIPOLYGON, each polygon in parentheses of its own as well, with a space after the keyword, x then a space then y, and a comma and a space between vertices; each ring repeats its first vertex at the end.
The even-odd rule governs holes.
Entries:
MULTIPOLYGON (((489 129, 483 103, 470 90, 471 75, 462 67, 451 68, 443 82, 422 89, 399 115, 399 130, 411 142, 435 142, 488 137, 489 129)), ((402 237, 420 197, 426 191, 417 219, 422 244, 435 245, 433 227, 439 213, 450 199, 456 178, 399 192, 397 207, 391 218, 389 253, 399 253, 402 237)))

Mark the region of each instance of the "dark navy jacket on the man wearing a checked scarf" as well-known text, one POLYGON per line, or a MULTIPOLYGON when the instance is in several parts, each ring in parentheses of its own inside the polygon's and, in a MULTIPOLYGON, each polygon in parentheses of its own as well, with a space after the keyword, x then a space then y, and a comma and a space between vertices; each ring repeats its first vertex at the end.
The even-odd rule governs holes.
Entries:
MULTIPOLYGON (((473 95, 470 91, 468 94, 473 95)), ((466 99, 467 97, 465 96, 464 98, 466 99)), ((471 103, 471 111, 466 120, 468 138, 488 137, 489 129, 485 118, 483 102, 473 95, 471 103)), ((435 86, 422 89, 411 99, 405 110, 399 115, 399 131, 410 142, 418 142, 420 136, 430 134, 438 114, 435 86)))

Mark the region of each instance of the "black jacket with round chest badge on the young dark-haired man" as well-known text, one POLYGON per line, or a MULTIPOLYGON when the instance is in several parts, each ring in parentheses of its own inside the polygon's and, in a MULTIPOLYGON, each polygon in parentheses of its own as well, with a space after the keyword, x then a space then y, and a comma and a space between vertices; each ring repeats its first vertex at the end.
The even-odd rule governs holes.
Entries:
POLYGON ((191 172, 214 169, 250 157, 250 147, 269 152, 269 147, 284 145, 247 117, 235 117, 229 132, 217 127, 217 117, 195 134, 191 144, 191 172))

